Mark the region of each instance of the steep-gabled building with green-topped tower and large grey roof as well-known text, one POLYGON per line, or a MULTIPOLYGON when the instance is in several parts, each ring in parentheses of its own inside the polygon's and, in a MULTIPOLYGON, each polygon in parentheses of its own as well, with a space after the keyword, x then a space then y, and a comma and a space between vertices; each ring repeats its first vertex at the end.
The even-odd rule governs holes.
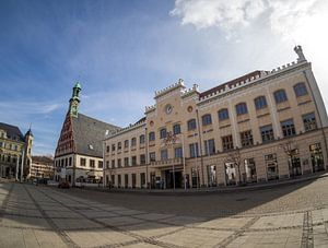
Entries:
POLYGON ((116 126, 79 113, 80 83, 73 87, 69 110, 55 152, 55 179, 99 181, 103 179, 103 140, 116 126))

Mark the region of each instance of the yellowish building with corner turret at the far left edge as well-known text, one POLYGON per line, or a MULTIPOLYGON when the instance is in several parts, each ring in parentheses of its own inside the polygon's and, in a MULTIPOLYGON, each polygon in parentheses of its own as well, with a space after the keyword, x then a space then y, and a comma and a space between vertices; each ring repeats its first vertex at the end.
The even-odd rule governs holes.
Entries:
POLYGON ((31 129, 23 135, 17 127, 0 122, 0 177, 19 179, 22 167, 23 178, 27 177, 32 163, 32 146, 31 129))

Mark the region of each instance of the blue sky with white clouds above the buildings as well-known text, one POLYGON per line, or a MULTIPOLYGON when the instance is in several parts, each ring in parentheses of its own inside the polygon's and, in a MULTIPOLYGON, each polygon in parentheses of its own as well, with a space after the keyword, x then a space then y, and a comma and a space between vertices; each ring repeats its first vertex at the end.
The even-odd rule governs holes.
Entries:
POLYGON ((303 47, 328 106, 326 0, 2 0, 0 122, 54 155, 69 98, 126 127, 178 79, 200 91, 296 60, 303 47))

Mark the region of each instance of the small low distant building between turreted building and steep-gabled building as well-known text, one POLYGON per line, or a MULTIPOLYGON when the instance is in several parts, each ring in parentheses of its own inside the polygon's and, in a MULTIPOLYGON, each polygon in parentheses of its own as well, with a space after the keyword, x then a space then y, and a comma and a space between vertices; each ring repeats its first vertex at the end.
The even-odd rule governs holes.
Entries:
POLYGON ((47 178, 54 179, 55 167, 54 158, 49 156, 32 156, 30 166, 31 178, 47 178))

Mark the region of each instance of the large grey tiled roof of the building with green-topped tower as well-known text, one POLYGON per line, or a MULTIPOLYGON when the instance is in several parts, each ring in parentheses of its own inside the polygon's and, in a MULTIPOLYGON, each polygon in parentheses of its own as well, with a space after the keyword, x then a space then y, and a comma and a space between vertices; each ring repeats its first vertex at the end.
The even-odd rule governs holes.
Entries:
POLYGON ((106 130, 109 132, 120 129, 83 114, 72 117, 75 153, 89 156, 103 156, 103 140, 106 130))

